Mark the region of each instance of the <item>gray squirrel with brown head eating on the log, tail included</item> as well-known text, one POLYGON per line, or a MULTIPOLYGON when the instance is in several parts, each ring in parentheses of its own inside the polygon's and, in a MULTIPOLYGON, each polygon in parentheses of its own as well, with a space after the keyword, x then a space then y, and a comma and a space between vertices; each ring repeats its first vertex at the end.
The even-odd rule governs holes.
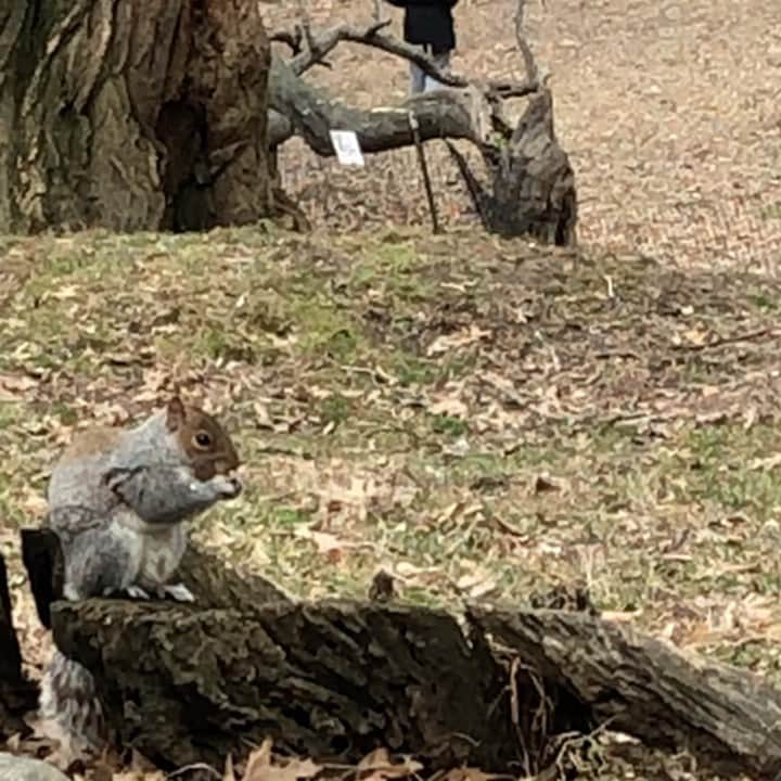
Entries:
MULTIPOLYGON (((242 491, 233 443, 215 418, 178 396, 131 428, 77 435, 49 482, 49 526, 60 539, 68 600, 125 592, 185 602, 171 582, 187 548, 182 522, 242 491)), ((91 674, 54 650, 39 716, 71 754, 100 751, 103 710, 91 674)))

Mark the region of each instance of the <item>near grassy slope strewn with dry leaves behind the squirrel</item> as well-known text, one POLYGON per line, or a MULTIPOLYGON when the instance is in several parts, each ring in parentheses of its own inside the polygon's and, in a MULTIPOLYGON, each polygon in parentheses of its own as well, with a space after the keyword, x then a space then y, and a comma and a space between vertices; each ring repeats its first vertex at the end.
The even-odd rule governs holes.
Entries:
MULTIPOLYGON (((380 568, 399 599, 451 606, 585 582, 609 615, 781 678, 776 282, 470 232, 23 246, 0 329, 0 550, 34 675, 49 639, 15 529, 44 512, 74 428, 179 387, 226 418, 247 469, 195 537, 293 593, 363 597, 380 568), (123 264, 138 284, 116 290, 123 264), (88 340, 69 298, 35 305, 61 284, 88 340)), ((295 761, 257 773, 316 772, 295 761)))

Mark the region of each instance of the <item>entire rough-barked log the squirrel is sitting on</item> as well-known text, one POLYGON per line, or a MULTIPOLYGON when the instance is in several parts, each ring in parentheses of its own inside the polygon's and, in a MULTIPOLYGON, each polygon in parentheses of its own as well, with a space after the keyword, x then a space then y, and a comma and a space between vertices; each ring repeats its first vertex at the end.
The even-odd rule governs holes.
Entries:
POLYGON ((118 739, 164 767, 220 765, 270 735, 320 760, 357 761, 383 745, 431 767, 539 771, 556 735, 599 725, 689 750, 728 776, 781 767, 781 692, 578 612, 588 604, 471 606, 459 617, 302 603, 197 551, 183 579, 195 605, 51 611, 56 644, 95 675, 118 739))

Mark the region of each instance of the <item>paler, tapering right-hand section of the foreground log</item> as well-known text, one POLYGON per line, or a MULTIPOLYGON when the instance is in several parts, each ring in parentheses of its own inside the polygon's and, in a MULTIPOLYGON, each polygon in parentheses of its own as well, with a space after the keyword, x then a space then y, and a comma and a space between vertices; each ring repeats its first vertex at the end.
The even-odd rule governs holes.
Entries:
POLYGON ((728 777, 781 770, 781 692, 750 673, 581 613, 474 606, 469 615, 543 679, 572 687, 611 729, 687 750, 728 777))

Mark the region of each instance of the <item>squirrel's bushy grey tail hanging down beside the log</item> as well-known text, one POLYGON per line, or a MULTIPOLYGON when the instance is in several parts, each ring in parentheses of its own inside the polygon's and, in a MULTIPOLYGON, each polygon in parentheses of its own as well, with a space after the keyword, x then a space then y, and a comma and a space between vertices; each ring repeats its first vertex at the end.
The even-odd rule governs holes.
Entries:
POLYGON ((100 751, 105 742, 103 707, 92 674, 56 649, 41 680, 39 715, 74 754, 100 751))

